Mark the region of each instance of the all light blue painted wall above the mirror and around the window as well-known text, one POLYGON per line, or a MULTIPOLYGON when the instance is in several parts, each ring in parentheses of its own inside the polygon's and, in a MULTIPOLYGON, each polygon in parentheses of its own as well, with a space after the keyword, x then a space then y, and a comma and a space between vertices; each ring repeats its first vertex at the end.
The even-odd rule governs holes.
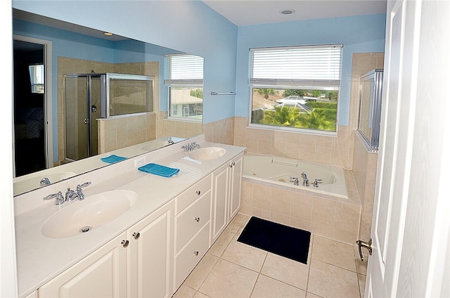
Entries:
POLYGON ((236 27, 202 1, 13 1, 13 8, 205 58, 205 124, 248 116, 248 49, 344 44, 339 118, 348 124, 352 53, 382 52, 385 14, 236 27), (211 91, 236 91, 211 96, 211 91))

